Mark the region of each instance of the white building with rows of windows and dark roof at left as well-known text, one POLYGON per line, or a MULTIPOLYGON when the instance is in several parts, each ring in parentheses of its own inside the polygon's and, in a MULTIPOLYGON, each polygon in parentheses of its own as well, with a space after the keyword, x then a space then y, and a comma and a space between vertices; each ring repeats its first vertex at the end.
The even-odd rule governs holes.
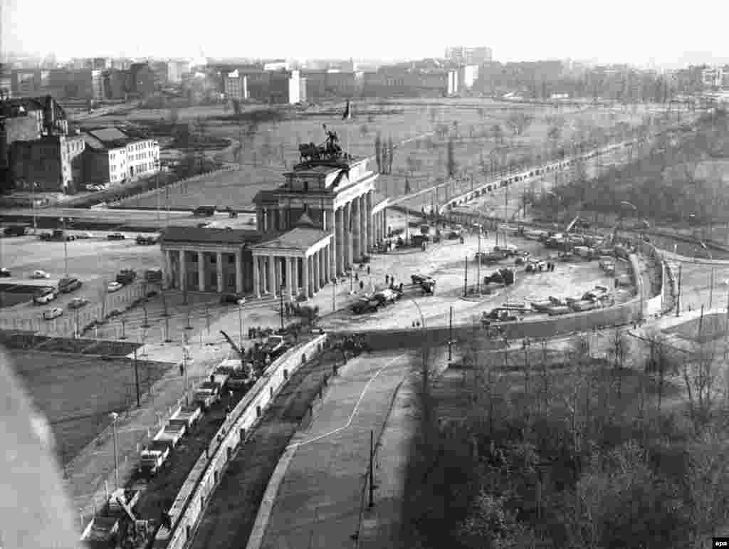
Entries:
POLYGON ((134 139, 117 128, 90 130, 83 138, 86 182, 125 182, 159 171, 160 145, 154 139, 134 139))

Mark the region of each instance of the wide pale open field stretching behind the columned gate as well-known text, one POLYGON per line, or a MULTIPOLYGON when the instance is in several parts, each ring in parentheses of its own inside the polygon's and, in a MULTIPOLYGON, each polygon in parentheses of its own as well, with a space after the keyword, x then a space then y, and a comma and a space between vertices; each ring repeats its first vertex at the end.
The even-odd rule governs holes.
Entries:
MULTIPOLYGON (((200 107, 198 109, 203 109, 200 107)), ((216 116, 212 107, 208 116, 216 116)), ((343 109, 343 105, 341 105, 343 109)), ((298 160, 297 145, 303 142, 324 141, 321 124, 337 131, 343 148, 355 156, 373 156, 374 140, 379 133, 383 139, 391 137, 394 144, 402 144, 394 152, 392 174, 381 176, 380 188, 391 197, 405 192, 405 175, 410 176, 410 189, 427 187, 437 180, 445 179, 445 159, 448 138, 433 136, 440 125, 446 133, 455 137, 454 158, 456 165, 464 173, 473 173, 479 180, 479 165, 491 166, 491 158, 506 163, 523 155, 546 157, 557 142, 571 144, 572 141, 586 139, 591 128, 611 128, 617 122, 637 125, 644 114, 652 111, 651 106, 625 110, 623 108, 561 107, 483 100, 439 100, 439 101, 367 101, 355 104, 354 120, 345 124, 340 118, 341 109, 313 109, 280 122, 261 123, 253 135, 246 133, 246 124, 223 120, 207 120, 206 133, 211 136, 226 137, 243 143, 241 155, 234 152, 220 157, 225 162, 238 162, 242 168, 235 175, 220 174, 211 176, 209 182, 197 184, 197 191, 188 192, 198 197, 201 203, 222 203, 227 200, 229 191, 219 193, 219 183, 226 186, 240 184, 245 187, 262 185, 273 186, 281 182, 281 172, 290 169, 298 160), (381 112, 387 114, 379 114, 381 112), (534 117, 528 128, 519 136, 514 136, 507 127, 510 116, 526 113, 534 117), (561 126, 561 138, 550 140, 547 134, 553 125, 561 126), (502 128, 503 140, 494 139, 493 127, 502 128), (405 142, 407 141, 407 142, 405 142), (498 142, 496 142, 498 141, 498 142), (405 143, 404 143, 405 142, 405 143), (498 149, 498 152, 494 152, 498 149), (493 153, 493 154, 492 154, 493 153), (220 181, 219 178, 222 178, 220 181)), ((186 109, 181 109, 182 113, 186 109)), ((146 113, 145 116, 149 114, 146 113)), ((163 112, 159 113, 160 115, 163 112)), ((151 116, 151 115, 150 115, 151 116)), ((202 116, 202 114, 201 114, 202 116)), ((151 117, 154 118, 154 117, 151 117)), ((193 118, 193 117, 191 117, 193 118)), ((137 119, 144 125, 145 119, 137 119)), ((112 122, 110 119, 107 121, 112 122)), ((371 161, 376 169, 375 161, 371 161)), ((251 191, 252 194, 253 191, 251 191)), ((245 203, 248 192, 235 197, 235 204, 245 203)), ((187 205, 191 198, 182 192, 172 199, 172 207, 187 205)), ((147 198, 143 206, 154 206, 156 198, 147 198)), ((133 202, 128 202, 132 205, 133 202)))

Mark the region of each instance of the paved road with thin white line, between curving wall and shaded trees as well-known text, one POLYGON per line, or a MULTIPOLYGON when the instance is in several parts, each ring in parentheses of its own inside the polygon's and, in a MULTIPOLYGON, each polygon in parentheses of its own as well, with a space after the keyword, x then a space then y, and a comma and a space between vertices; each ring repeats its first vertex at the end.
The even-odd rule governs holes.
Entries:
MULTIPOLYGON (((359 525, 370 432, 379 433, 410 370, 400 351, 354 359, 340 370, 308 430, 289 445, 262 548, 343 548, 359 525)), ((249 548, 257 545, 254 539, 249 548)))

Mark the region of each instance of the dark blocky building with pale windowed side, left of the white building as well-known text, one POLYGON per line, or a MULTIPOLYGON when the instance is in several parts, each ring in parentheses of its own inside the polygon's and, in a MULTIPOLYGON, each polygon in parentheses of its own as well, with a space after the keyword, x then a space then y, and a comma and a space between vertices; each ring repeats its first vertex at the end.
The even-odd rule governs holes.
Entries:
POLYGON ((9 154, 15 188, 74 194, 83 182, 84 149, 79 135, 15 141, 9 154))

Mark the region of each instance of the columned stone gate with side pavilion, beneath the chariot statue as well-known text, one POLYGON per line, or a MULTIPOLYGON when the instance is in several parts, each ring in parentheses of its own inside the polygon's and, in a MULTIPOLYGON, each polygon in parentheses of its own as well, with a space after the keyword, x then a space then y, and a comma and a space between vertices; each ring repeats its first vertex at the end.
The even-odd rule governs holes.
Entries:
POLYGON ((169 227, 169 287, 254 297, 312 297, 385 237, 387 200, 366 159, 301 163, 260 192, 257 230, 169 227), (280 292, 280 294, 279 294, 280 292))

